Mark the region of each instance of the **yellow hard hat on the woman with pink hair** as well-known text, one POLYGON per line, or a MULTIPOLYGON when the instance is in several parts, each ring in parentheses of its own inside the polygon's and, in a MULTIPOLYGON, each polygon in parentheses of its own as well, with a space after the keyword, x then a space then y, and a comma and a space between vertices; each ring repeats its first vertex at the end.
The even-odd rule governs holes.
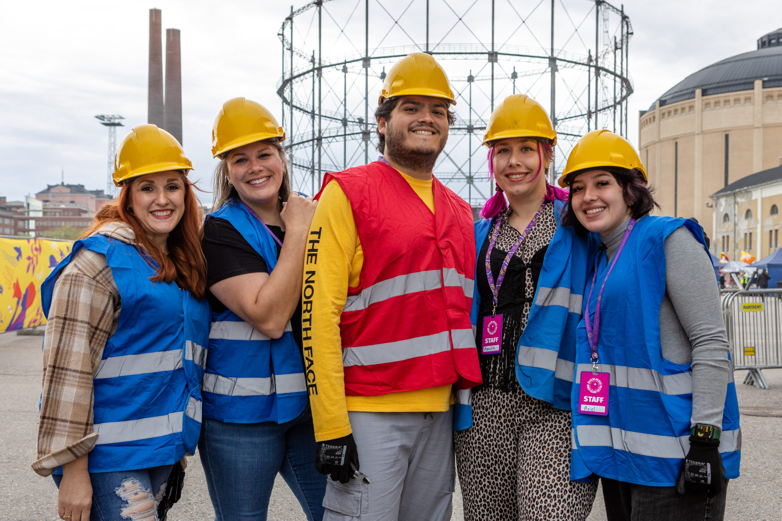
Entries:
POLYGON ((483 144, 505 138, 543 138, 557 144, 554 125, 540 103, 524 94, 509 95, 489 117, 483 144))

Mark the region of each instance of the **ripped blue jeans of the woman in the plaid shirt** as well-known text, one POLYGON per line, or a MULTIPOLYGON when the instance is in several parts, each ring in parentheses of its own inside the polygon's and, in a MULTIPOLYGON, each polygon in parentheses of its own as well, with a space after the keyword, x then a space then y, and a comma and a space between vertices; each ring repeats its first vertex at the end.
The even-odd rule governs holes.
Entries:
MULTIPOLYGON (((157 501, 166 490, 172 465, 151 469, 91 472, 92 521, 157 519, 157 501)), ((52 476, 59 488, 63 476, 52 476)))

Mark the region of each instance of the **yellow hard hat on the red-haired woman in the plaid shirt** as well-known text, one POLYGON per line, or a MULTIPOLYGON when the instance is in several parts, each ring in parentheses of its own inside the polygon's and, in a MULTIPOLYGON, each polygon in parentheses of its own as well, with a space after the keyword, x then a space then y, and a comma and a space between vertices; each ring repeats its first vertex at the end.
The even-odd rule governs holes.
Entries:
POLYGON ((112 178, 119 186, 139 175, 192 168, 193 164, 177 138, 156 125, 144 124, 134 127, 120 142, 120 151, 114 156, 112 178))

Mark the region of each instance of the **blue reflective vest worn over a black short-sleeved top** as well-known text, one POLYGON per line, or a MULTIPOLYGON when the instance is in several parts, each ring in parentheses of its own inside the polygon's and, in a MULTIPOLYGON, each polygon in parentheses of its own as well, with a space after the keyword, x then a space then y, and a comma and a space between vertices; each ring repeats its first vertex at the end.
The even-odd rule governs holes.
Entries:
MULTIPOLYGON (((271 233, 244 205, 231 199, 206 219, 230 222, 264 257, 269 273, 277 264, 271 233)), ((309 403, 304 365, 291 324, 272 339, 230 309, 212 314, 209 360, 203 375, 203 415, 221 422, 285 423, 309 403)))

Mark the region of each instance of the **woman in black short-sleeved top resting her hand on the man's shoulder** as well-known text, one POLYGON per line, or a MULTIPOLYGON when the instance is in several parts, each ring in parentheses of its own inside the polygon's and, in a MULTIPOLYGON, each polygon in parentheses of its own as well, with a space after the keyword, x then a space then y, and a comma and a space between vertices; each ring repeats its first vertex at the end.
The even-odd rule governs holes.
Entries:
POLYGON ((199 455, 217 521, 266 519, 278 473, 307 519, 323 517, 300 309, 317 203, 291 192, 283 139, 249 99, 229 99, 214 120, 221 162, 203 237, 213 313, 199 455))

